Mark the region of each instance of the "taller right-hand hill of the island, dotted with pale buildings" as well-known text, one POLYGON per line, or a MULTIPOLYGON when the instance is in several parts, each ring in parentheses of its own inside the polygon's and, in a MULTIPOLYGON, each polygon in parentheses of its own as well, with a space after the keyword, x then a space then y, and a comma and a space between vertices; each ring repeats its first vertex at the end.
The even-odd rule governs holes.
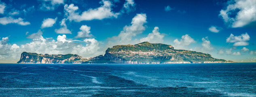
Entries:
POLYGON ((142 42, 135 45, 118 45, 108 48, 106 58, 115 63, 222 63, 209 54, 176 50, 167 44, 142 42))

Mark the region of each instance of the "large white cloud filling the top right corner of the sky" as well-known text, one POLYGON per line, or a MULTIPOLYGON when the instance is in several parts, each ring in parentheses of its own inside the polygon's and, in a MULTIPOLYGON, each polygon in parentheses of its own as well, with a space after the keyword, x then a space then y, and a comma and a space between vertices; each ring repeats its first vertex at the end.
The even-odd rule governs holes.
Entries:
POLYGON ((234 0, 226 10, 221 10, 219 16, 231 27, 243 27, 256 21, 256 0, 234 0), (235 15, 234 17, 231 17, 235 15))

